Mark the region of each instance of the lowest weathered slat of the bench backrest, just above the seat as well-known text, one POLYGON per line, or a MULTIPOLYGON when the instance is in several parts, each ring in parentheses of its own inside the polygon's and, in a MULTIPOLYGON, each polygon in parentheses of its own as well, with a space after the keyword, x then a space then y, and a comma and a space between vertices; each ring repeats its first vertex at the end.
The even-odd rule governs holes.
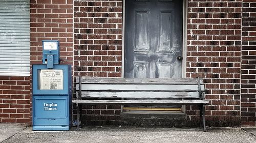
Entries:
MULTIPOLYGON (((77 92, 78 94, 79 92, 77 92)), ((199 98, 197 92, 86 92, 81 98, 199 98)))

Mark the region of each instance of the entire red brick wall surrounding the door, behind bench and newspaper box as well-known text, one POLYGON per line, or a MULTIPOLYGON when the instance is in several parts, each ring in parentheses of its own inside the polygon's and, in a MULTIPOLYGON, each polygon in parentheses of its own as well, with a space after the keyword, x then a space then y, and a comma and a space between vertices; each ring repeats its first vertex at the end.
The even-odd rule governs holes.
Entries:
MULTIPOLYGON (((239 126, 240 120, 255 126, 255 3, 188 0, 186 76, 204 79, 207 126, 239 126)), ((31 64, 41 63, 41 40, 59 40, 63 63, 74 63, 74 76, 121 77, 122 5, 32 0, 31 64)), ((29 77, 0 77, 0 122, 29 122, 30 83, 29 77)), ((186 111, 198 120, 196 107, 186 111)), ((83 106, 82 113, 86 124, 114 125, 120 106, 83 106)))

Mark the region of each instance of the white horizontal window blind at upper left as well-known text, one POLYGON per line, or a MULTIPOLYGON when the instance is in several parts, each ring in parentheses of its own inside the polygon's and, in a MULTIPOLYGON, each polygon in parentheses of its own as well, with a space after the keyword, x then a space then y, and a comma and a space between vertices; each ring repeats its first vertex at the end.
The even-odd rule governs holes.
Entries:
POLYGON ((0 75, 30 75, 28 0, 0 0, 0 75))

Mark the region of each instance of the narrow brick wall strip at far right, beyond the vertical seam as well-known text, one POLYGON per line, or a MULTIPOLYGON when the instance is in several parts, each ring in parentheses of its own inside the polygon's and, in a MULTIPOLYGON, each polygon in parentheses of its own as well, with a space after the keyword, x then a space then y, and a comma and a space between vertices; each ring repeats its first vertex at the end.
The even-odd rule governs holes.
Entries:
POLYGON ((243 1, 242 28, 242 93, 241 120, 243 126, 255 126, 256 121, 256 1, 243 1))

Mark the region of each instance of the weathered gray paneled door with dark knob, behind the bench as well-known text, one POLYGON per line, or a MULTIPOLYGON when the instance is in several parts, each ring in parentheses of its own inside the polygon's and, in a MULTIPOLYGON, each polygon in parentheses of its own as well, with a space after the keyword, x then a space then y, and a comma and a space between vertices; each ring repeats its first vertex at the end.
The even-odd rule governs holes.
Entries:
POLYGON ((124 77, 181 78, 183 1, 125 1, 124 77))

